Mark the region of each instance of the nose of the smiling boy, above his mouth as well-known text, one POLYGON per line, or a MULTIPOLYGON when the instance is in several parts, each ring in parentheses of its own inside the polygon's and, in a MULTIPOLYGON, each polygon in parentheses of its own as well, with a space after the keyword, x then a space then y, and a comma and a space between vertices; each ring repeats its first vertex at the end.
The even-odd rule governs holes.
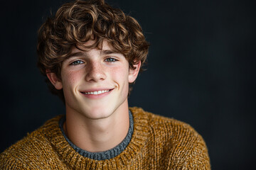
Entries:
POLYGON ((106 79, 104 67, 99 62, 91 61, 87 65, 85 80, 101 81, 106 79))

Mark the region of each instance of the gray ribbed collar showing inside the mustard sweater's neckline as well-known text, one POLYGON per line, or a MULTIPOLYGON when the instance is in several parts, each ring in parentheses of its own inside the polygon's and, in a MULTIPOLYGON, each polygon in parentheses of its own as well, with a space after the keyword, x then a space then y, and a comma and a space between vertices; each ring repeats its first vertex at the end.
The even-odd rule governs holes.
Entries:
POLYGON ((65 122, 65 116, 63 116, 63 118, 61 118, 59 121, 60 130, 63 133, 65 140, 67 140, 67 142, 70 144, 70 146, 73 147, 73 149, 75 149, 75 151, 78 152, 80 155, 82 155, 83 157, 87 157, 87 158, 95 159, 95 160, 105 160, 105 159, 112 159, 114 157, 117 157, 117 155, 121 154, 121 152, 124 151, 124 149, 127 147, 127 145, 129 145, 129 142, 132 139, 132 134, 134 131, 133 116, 132 116, 131 111, 129 111, 129 130, 128 130, 127 136, 124 138, 124 140, 119 145, 117 145, 116 147, 114 147, 110 150, 107 150, 105 152, 87 152, 87 151, 75 146, 68 139, 68 137, 65 135, 65 132, 63 130, 64 122, 65 122))

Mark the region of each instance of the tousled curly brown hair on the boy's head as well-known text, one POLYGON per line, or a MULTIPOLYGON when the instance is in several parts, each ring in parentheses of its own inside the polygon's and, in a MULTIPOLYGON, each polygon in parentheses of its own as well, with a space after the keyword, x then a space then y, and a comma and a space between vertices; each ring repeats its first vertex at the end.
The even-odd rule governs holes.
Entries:
MULTIPOLYGON (((44 76, 49 70, 61 79, 62 63, 73 47, 99 48, 103 40, 126 57, 130 69, 134 69, 134 64, 139 61, 144 64, 149 43, 134 18, 112 8, 104 0, 77 0, 63 4, 38 30, 38 67, 44 76), (94 40, 94 44, 85 47, 88 40, 94 40)), ((55 89, 48 79, 46 82, 50 91, 65 102, 63 90, 55 89)))

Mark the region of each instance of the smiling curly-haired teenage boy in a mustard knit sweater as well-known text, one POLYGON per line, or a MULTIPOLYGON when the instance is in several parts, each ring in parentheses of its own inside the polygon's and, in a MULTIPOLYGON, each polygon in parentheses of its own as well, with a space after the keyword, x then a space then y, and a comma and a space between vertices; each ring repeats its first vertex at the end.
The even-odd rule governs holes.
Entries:
POLYGON ((38 35, 38 67, 66 114, 6 149, 1 169, 210 169, 201 135, 129 108, 146 60, 139 23, 103 0, 61 6, 38 35))

